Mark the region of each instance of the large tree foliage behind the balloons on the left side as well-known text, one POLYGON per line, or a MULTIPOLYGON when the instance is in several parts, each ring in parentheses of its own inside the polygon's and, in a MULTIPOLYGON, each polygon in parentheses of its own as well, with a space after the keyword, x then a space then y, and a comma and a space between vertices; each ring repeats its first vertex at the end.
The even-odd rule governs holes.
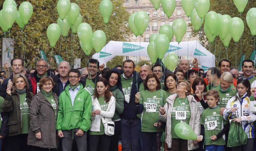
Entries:
MULTIPOLYGON (((4 1, 0 2, 0 6, 3 5, 4 1)), ((23 0, 16 0, 17 9, 23 0)), ((29 65, 35 66, 36 61, 39 59, 39 50, 43 49, 51 68, 56 68, 56 63, 53 60, 54 54, 60 54, 65 61, 72 62, 72 58, 81 58, 81 66, 87 65, 88 58, 92 58, 92 53, 86 56, 79 45, 79 39, 77 34, 71 34, 71 29, 68 36, 57 42, 54 48, 50 47, 49 41, 46 36, 46 30, 48 25, 56 23, 59 17, 57 13, 57 1, 52 0, 30 0, 29 1, 34 8, 34 13, 29 20, 28 25, 23 29, 21 34, 21 29, 14 23, 10 30, 10 38, 15 39, 14 46, 14 56, 23 57, 23 47, 26 47, 25 52, 25 67, 29 65), (26 33, 26 39, 25 34, 26 33), (22 43, 23 38, 23 43, 22 43), (71 50, 73 53, 71 53, 71 50), (72 57, 73 55, 73 57, 72 57)), ((123 41, 128 39, 131 31, 126 23, 128 22, 129 13, 125 11, 123 7, 123 1, 113 0, 113 13, 110 16, 109 23, 104 24, 103 18, 100 15, 99 5, 101 0, 73 0, 80 7, 80 14, 83 16, 83 22, 88 23, 92 27, 92 31, 102 30, 107 36, 107 43, 110 40, 123 41)), ((0 34, 3 31, 0 30, 0 34)), ((6 33, 7 34, 7 33, 6 33)), ((2 35, 3 37, 4 35, 2 35)), ((9 34, 6 36, 9 37, 9 34)))

